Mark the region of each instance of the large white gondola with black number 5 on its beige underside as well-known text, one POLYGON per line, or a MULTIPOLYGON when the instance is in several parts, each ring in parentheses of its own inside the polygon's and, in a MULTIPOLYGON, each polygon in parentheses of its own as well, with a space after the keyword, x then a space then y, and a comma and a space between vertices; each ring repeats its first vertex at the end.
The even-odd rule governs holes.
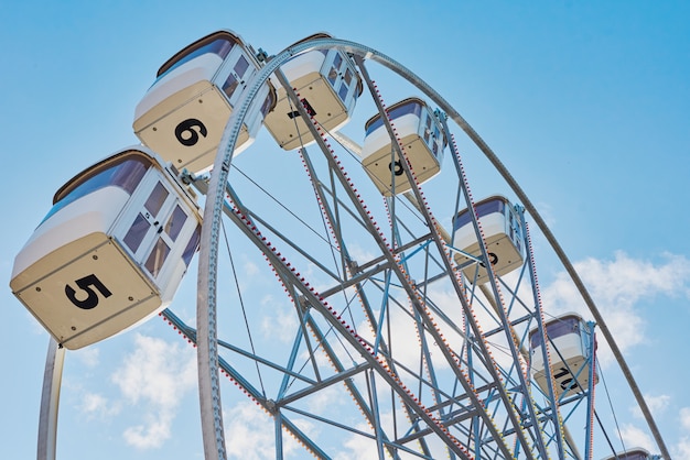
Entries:
POLYGON ((14 259, 10 287, 58 343, 78 349, 173 298, 201 238, 171 166, 125 149, 66 183, 14 259))

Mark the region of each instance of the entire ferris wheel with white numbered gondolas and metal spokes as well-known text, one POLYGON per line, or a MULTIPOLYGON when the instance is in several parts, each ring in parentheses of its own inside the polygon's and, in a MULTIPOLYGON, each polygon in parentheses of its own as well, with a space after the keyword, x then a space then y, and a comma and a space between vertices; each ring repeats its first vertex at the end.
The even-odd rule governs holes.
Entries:
POLYGON ((617 350, 603 318, 496 155, 398 62, 323 33, 268 56, 218 31, 163 64, 133 129, 142 145, 58 190, 15 261, 13 292, 55 339, 41 458, 65 348, 155 314, 197 347, 207 459, 227 458, 222 394, 237 390, 274 458, 293 440, 324 459, 345 442, 366 458, 659 458, 597 441, 612 431, 596 335, 617 350), (594 321, 549 313, 532 231, 594 321), (197 247, 188 325, 172 300, 197 247))

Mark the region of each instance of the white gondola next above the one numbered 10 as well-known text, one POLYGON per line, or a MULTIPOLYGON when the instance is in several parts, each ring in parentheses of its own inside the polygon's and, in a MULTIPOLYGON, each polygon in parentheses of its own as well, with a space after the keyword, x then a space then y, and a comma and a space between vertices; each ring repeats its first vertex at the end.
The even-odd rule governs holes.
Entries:
MULTIPOLYGON (((522 222, 510 201, 502 196, 492 196, 476 202, 474 208, 484 232, 494 273, 503 276, 520 267, 525 261, 522 222)), ((472 213, 467 209, 455 217, 452 244, 461 251, 455 253, 455 262, 463 267, 465 277, 473 284, 486 283, 488 273, 484 264, 477 262, 482 251, 472 213)))

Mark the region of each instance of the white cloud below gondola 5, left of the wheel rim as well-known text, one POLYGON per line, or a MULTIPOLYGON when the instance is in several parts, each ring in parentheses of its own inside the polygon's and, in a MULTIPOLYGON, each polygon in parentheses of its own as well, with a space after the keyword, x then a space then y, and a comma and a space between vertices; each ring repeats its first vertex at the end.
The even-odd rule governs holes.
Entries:
POLYGON ((181 396, 196 382, 195 355, 191 348, 140 333, 134 343, 111 379, 126 403, 143 412, 144 423, 128 427, 123 437, 139 449, 159 448, 171 437, 181 396))

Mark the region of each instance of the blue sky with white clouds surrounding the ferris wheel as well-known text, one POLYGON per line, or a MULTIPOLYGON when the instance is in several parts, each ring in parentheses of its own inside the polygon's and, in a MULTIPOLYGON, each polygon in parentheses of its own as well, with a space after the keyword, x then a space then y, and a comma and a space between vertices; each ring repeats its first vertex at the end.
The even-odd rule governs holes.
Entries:
MULTIPOLYGON (((46 332, 8 287, 14 255, 65 180, 138 143, 134 106, 158 67, 194 40, 230 29, 269 54, 327 31, 398 59, 436 89, 547 217, 616 335, 671 452, 689 458, 690 7, 249 3, 26 1, 3 9, 0 152, 8 213, 0 229, 0 296, 8 321, 0 457, 35 454, 47 348, 46 332)), ((482 174, 470 179, 476 195, 494 191, 482 174)), ((554 310, 568 309, 560 266, 546 256, 538 269, 554 310)), ((173 304, 187 316, 193 278, 194 272, 173 304)), ((58 457, 202 458, 193 359, 159 319, 68 354, 58 457), (137 384, 142 379, 147 385, 137 384)), ((234 427, 233 452, 250 448, 240 439, 265 448, 270 430, 267 439, 242 431, 255 415, 245 413, 241 397, 225 397, 229 392, 227 414, 246 420, 226 421, 234 427)), ((624 436, 647 442, 635 410, 624 407, 617 416, 624 436)))

